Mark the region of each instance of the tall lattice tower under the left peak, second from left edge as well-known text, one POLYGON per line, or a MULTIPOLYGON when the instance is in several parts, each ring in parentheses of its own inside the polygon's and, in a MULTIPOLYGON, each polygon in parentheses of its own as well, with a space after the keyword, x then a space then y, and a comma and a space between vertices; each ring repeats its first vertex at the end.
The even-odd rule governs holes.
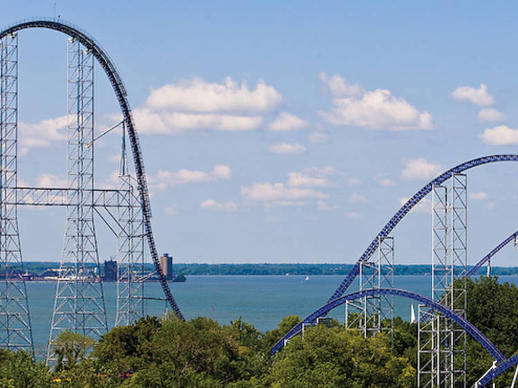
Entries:
POLYGON ((93 59, 68 40, 68 206, 47 361, 61 331, 97 339, 108 330, 93 210, 93 59))

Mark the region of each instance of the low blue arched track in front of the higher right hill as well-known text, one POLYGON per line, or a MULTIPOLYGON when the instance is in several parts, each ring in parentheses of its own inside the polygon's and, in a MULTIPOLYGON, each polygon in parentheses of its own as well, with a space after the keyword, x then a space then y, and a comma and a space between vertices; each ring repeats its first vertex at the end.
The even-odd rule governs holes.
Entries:
MULTIPOLYGON (((304 323, 311 323, 316 320, 316 318, 325 316, 329 311, 332 309, 340 306, 341 304, 344 304, 348 300, 355 300, 358 298, 363 298, 365 296, 376 296, 376 295, 394 295, 394 296, 402 296, 403 298, 410 298, 413 300, 416 300, 417 302, 420 302, 422 304, 427 305, 432 310, 437 311, 438 313, 443 314, 444 316, 447 316, 459 326, 461 326, 470 336, 472 336, 477 342, 479 342, 480 345, 482 345, 490 354, 498 360, 498 362, 502 362, 506 358, 503 357, 503 354, 495 347, 495 345, 492 344, 486 336, 484 336, 477 327, 474 327, 473 324, 468 322, 465 318, 462 316, 459 316, 456 312, 452 311, 451 309, 448 309, 448 307, 445 307, 443 304, 439 302, 435 302, 434 300, 427 298, 423 295, 420 295, 419 293, 414 293, 411 291, 401 290, 401 289, 365 289, 363 291, 358 291, 354 293, 349 293, 348 295, 345 295, 341 298, 332 300, 331 302, 327 302, 323 307, 320 307, 320 309, 317 309, 313 313, 311 313, 307 318, 303 321, 304 323)), ((297 325, 296 333, 294 333, 294 336, 302 330, 302 322, 297 325)), ((284 345, 284 338, 279 340, 274 347, 271 348, 270 353, 274 354, 276 351, 278 351, 282 346, 284 345)))

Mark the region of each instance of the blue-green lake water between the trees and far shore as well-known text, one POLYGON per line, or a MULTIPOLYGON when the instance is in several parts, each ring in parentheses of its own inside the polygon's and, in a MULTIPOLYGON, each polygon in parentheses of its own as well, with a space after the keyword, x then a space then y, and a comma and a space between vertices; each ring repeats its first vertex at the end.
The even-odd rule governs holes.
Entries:
MULTIPOLYGON (((229 323, 242 317, 264 332, 277 327, 285 316, 307 316, 324 304, 343 280, 341 275, 313 275, 309 276, 309 280, 305 278, 305 275, 189 275, 186 282, 169 285, 188 320, 204 316, 220 323, 229 323)), ((518 276, 501 276, 499 282, 518 284, 518 276)), ((46 354, 55 287, 54 282, 27 282, 35 353, 39 358, 44 358, 46 354)), ((430 276, 395 276, 394 287, 430 296, 430 276)), ((357 288, 358 285, 353 284, 347 292, 357 288)), ((146 283, 146 293, 148 296, 163 297, 157 282, 146 283)), ((113 327, 117 284, 105 283, 104 295, 108 326, 113 327)), ((414 303, 414 307, 417 307, 417 303, 405 298, 395 298, 394 301, 394 315, 410 320, 410 304, 414 303)), ((164 307, 164 302, 146 302, 146 311, 151 316, 162 316, 164 307)), ((342 322, 344 307, 334 309, 330 316, 342 322)))

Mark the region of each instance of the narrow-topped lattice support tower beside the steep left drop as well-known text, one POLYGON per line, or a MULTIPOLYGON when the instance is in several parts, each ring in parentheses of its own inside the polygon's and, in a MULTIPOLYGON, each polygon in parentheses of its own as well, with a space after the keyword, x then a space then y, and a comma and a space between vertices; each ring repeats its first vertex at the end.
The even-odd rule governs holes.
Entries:
POLYGON ((137 182, 127 171, 126 133, 123 124, 119 169, 117 314, 115 326, 128 325, 144 316, 144 218, 137 182))

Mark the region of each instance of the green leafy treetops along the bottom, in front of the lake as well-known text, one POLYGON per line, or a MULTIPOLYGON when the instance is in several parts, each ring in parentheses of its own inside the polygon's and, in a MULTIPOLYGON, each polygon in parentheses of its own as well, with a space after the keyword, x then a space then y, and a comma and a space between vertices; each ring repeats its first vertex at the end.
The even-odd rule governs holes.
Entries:
MULTIPOLYGON (((468 320, 506 357, 518 351, 518 290, 497 278, 468 280, 468 320)), ((363 338, 336 320, 305 329, 289 345, 269 349, 294 324, 288 316, 261 333, 241 319, 180 321, 146 317, 115 327, 97 342, 63 332, 54 369, 23 351, 0 350, 1 387, 416 387, 417 327, 394 320, 394 337, 363 338)), ((492 364, 467 342, 471 386, 492 364)), ((507 385, 512 371, 497 386, 507 385)))

